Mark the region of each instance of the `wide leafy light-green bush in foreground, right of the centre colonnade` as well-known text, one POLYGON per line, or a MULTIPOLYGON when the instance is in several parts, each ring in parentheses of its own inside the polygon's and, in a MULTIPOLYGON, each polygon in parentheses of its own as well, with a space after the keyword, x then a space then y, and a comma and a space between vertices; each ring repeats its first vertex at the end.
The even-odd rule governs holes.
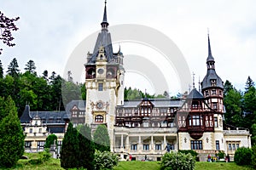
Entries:
POLYGON ((161 170, 193 170, 195 169, 195 157, 181 152, 166 153, 162 157, 161 170))

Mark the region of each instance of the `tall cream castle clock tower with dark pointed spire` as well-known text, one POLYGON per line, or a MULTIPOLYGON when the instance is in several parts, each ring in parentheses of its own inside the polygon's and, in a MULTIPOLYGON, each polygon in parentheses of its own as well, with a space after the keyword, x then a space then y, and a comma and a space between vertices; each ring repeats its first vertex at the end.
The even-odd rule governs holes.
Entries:
POLYGON ((99 124, 106 124, 113 150, 113 125, 115 107, 124 104, 123 54, 113 54, 108 32, 107 7, 105 2, 102 31, 98 34, 92 54, 87 54, 85 64, 86 116, 85 122, 92 131, 99 124))

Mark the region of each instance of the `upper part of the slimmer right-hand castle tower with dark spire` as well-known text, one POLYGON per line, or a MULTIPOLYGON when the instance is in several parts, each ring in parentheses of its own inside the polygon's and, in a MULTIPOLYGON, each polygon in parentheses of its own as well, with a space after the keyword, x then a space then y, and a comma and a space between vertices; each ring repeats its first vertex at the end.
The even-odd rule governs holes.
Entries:
POLYGON ((224 84, 215 71, 215 61, 212 57, 210 37, 208 34, 207 75, 201 82, 201 93, 204 95, 207 105, 218 113, 224 113, 223 91, 224 84))

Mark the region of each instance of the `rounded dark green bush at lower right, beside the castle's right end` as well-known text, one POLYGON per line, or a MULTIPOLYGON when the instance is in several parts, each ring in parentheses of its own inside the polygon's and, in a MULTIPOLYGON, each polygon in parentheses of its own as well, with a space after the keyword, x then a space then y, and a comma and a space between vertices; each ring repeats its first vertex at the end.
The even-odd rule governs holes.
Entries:
POLYGON ((237 165, 251 165, 253 150, 250 148, 241 147, 235 152, 234 161, 237 165))

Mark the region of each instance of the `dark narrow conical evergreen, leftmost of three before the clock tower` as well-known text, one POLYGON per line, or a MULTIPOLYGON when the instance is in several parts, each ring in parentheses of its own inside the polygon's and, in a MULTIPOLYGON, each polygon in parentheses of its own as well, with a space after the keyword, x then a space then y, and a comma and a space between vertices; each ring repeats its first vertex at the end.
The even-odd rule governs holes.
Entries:
POLYGON ((78 131, 71 122, 68 123, 61 146, 61 167, 68 169, 79 167, 79 139, 78 131))

